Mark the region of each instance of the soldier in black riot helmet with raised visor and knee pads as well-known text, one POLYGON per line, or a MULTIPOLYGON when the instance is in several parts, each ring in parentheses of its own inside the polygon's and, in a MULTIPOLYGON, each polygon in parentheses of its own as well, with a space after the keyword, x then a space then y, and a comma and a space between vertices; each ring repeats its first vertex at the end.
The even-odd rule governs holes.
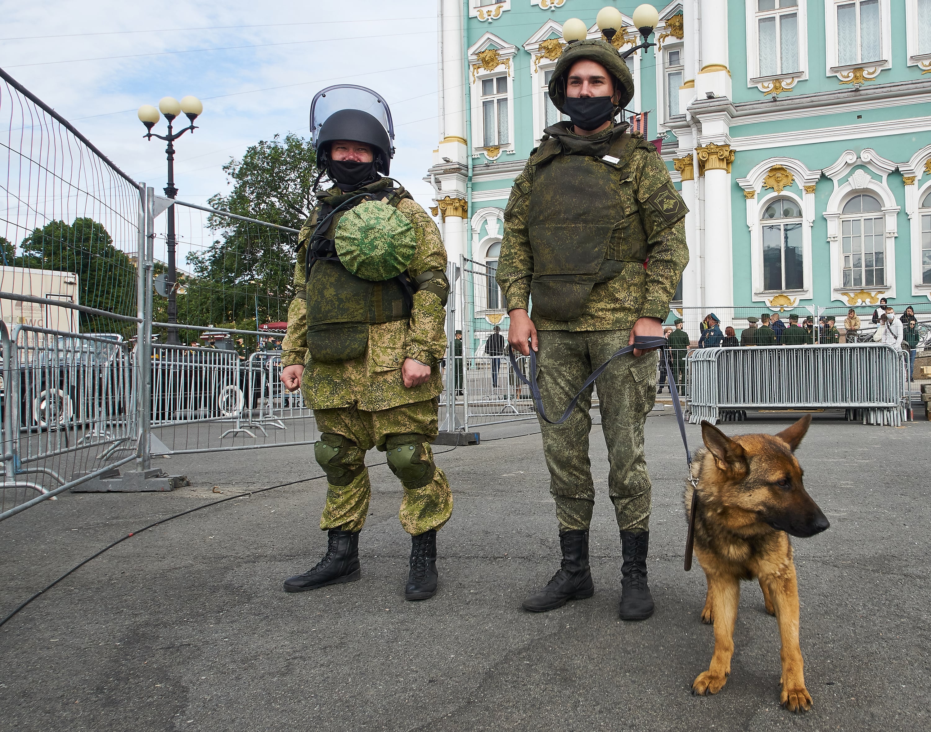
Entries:
MULTIPOLYGON (((430 447, 443 390, 446 250, 425 210, 387 177, 390 114, 332 109, 358 100, 360 88, 325 89, 311 107, 317 166, 333 186, 317 194, 298 236, 281 380, 289 391, 300 387, 314 409, 314 457, 327 475, 320 528, 329 534, 317 566, 286 579, 284 589, 359 579, 358 537, 371 497, 365 454, 376 447, 404 488, 399 518, 412 536, 405 597, 422 600, 437 592, 437 531, 452 513, 450 484, 430 447), (325 119, 315 116, 321 97, 331 104, 325 119)), ((370 110, 387 109, 363 92, 370 110)))

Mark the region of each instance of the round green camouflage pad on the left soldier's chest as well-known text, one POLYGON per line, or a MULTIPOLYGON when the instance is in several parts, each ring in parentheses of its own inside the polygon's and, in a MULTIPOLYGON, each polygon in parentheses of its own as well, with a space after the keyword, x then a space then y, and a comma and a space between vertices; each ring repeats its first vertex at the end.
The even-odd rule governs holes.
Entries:
POLYGON ((404 272, 417 249, 411 222, 397 208, 381 201, 366 201, 345 213, 334 238, 343 266, 373 282, 404 272))

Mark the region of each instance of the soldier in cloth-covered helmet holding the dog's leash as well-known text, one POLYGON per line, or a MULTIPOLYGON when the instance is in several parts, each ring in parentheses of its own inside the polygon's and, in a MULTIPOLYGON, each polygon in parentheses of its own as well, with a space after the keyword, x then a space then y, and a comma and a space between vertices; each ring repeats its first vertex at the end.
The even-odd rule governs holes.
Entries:
MULTIPOLYGON (((543 404, 557 415, 618 349, 636 336, 662 337, 689 253, 687 209, 666 164, 640 133, 615 122, 634 84, 614 47, 603 40, 571 43, 548 94, 571 121, 546 127, 514 181, 497 282, 510 316, 508 342, 524 355, 538 353, 543 404)), ((611 463, 608 492, 624 558, 619 610, 627 620, 654 612, 643 427, 656 398, 657 357, 635 350, 615 359, 598 380, 611 463)), ((589 387, 561 425, 540 419, 562 564, 546 587, 524 600, 527 610, 551 610, 594 592, 588 566, 595 499, 588 460, 591 393, 589 387)))

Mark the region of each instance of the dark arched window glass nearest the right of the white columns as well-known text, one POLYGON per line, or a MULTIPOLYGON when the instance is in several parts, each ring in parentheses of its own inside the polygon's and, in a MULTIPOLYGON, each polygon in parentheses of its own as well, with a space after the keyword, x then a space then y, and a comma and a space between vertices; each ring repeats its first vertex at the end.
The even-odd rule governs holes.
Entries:
POLYGON ((802 209, 777 198, 762 212, 762 288, 770 292, 804 289, 802 209))

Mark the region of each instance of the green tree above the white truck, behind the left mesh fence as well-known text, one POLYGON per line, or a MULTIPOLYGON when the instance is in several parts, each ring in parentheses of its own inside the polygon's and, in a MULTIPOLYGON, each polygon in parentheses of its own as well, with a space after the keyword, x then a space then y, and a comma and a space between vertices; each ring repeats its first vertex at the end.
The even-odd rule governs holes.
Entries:
MULTIPOLYGON (((123 315, 136 314, 136 268, 127 254, 114 246, 103 225, 85 217, 71 225, 49 221, 20 242, 21 267, 73 272, 78 277, 82 305, 123 315)), ((112 330, 115 321, 81 313, 83 330, 112 330)))

